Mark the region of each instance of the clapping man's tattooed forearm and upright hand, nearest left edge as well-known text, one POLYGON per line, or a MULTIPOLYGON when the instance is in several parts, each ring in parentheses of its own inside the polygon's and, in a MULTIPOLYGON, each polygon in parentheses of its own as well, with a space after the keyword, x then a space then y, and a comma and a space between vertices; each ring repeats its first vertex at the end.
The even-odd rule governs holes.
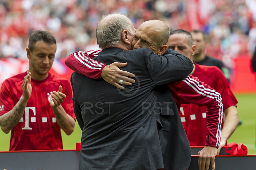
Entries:
POLYGON ((17 123, 19 123, 24 111, 25 107, 28 103, 28 99, 30 98, 32 92, 31 82, 31 73, 28 73, 24 77, 24 82, 22 84, 22 98, 20 101, 13 107, 12 110, 0 116, 0 126, 4 133, 9 133, 12 128, 14 128, 17 123))

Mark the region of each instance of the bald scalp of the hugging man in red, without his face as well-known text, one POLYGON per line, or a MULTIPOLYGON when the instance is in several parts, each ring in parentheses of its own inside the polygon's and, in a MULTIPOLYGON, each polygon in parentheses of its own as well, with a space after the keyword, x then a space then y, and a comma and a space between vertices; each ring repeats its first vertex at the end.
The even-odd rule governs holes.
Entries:
POLYGON ((169 27, 163 21, 160 21, 160 20, 145 21, 142 24, 140 24, 139 28, 148 30, 147 32, 151 33, 150 36, 155 41, 156 47, 167 45, 170 30, 169 30, 169 27))

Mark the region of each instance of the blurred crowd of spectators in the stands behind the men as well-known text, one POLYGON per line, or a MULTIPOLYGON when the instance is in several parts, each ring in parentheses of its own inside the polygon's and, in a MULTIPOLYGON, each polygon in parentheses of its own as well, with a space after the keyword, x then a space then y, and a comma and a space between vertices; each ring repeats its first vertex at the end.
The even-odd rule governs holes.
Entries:
POLYGON ((159 19, 170 30, 190 31, 194 29, 188 24, 192 1, 207 2, 207 18, 197 28, 208 35, 207 54, 229 65, 237 54, 253 52, 255 0, 0 0, 0 58, 26 58, 28 37, 37 29, 56 37, 56 58, 99 49, 96 26, 102 15, 111 12, 127 14, 135 28, 159 19))

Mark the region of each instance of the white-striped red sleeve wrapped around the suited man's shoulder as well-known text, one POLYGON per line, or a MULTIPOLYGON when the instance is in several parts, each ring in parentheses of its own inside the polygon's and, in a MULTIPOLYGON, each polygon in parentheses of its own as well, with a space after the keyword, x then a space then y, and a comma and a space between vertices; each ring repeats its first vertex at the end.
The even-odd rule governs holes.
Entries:
POLYGON ((92 58, 98 56, 100 50, 93 51, 77 51, 70 54, 65 60, 65 64, 75 72, 90 77, 92 79, 100 79, 101 72, 106 64, 100 63, 92 58))

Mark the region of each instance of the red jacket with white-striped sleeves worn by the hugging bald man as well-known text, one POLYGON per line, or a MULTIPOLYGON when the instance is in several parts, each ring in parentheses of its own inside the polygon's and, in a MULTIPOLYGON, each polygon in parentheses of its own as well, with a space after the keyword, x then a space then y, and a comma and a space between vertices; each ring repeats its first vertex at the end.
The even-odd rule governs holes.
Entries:
MULTIPOLYGON (((99 53, 100 51, 93 51, 93 53, 99 53)), ((76 56, 83 56, 86 58, 93 58, 92 52, 79 51, 68 56, 65 60, 65 64, 76 71, 77 73, 83 74, 90 77, 90 67, 76 58, 76 56), (80 55, 79 55, 80 54, 80 55)), ((82 59, 83 59, 82 58, 82 59)), ((96 62, 96 61, 95 61, 96 62)), ((100 63, 100 62, 99 62, 100 63)), ((100 71, 98 71, 100 72, 100 71)), ((96 73, 96 72, 94 72, 96 73)), ((101 73, 101 72, 100 72, 101 73)), ((97 75, 99 73, 96 73, 97 75)), ((95 76, 92 76, 93 78, 95 76)), ((171 89, 173 98, 175 99, 178 109, 180 109, 180 104, 197 104, 200 106, 207 106, 207 141, 205 141, 206 146, 219 147, 220 144, 220 131, 222 123, 222 99, 220 94, 210 86, 198 80, 197 77, 189 75, 183 81, 174 81, 168 83, 171 89)))

